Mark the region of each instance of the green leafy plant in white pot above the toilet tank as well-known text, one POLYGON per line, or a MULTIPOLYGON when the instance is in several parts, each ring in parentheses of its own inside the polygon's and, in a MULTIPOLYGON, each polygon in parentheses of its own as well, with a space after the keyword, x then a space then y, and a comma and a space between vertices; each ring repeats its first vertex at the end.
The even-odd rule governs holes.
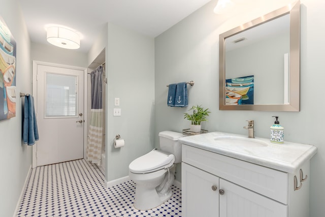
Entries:
POLYGON ((193 111, 192 113, 184 113, 184 119, 191 121, 190 131, 194 133, 201 132, 201 122, 207 121, 207 116, 211 112, 199 105, 192 106, 188 111, 193 111))

